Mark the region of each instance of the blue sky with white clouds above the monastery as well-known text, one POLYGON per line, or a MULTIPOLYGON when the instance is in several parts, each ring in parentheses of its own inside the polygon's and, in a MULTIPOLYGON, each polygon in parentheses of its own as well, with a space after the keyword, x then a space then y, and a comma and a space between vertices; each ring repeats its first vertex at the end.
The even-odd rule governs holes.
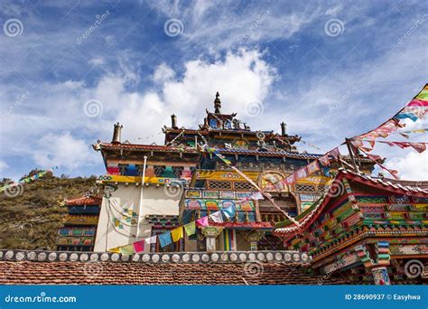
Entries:
MULTIPOLYGON (((423 1, 2 1, 0 23, 0 176, 14 179, 105 173, 90 145, 116 121, 124 140, 161 144, 172 113, 196 127, 218 90, 253 129, 285 121, 321 148, 299 149, 327 151, 428 80, 423 1)), ((377 153, 426 179, 425 153, 377 153)))

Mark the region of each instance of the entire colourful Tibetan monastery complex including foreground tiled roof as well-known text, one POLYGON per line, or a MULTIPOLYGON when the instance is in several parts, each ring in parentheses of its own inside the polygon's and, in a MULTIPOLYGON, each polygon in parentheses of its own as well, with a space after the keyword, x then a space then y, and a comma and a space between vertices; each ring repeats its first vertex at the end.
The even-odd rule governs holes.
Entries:
POLYGON ((427 283, 428 182, 370 176, 373 159, 350 146, 299 152, 284 123, 223 114, 219 93, 199 128, 172 115, 164 145, 122 142, 122 128, 93 145, 102 199, 66 201, 58 252, 0 249, 0 284, 427 283))

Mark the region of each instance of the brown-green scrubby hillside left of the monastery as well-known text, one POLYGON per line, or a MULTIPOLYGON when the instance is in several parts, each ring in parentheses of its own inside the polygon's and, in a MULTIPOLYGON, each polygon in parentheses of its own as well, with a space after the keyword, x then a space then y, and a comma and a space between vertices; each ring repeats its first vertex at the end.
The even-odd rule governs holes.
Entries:
MULTIPOLYGON (((67 212, 58 201, 82 196, 95 188, 96 179, 59 178, 47 173, 33 183, 24 183, 19 194, 1 193, 0 248, 54 249, 57 229, 67 212)), ((3 186, 7 180, 0 183, 3 186)))

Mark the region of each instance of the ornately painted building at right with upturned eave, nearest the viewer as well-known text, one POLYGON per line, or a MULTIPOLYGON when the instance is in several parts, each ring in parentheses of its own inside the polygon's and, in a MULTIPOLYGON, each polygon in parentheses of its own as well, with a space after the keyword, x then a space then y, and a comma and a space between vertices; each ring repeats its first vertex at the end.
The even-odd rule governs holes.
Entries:
POLYGON ((323 276, 420 283, 428 263, 428 182, 412 184, 340 170, 330 190, 297 217, 300 229, 284 221, 274 235, 286 249, 312 256, 323 276))

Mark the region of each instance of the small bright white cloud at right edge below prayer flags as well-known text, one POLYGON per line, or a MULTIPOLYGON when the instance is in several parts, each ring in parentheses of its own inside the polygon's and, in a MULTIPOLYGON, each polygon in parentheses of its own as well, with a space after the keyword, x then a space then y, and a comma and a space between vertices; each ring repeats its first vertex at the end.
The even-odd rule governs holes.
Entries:
POLYGON ((399 171, 400 179, 426 181, 428 179, 428 151, 422 154, 410 152, 404 157, 395 157, 386 163, 388 168, 399 171))

